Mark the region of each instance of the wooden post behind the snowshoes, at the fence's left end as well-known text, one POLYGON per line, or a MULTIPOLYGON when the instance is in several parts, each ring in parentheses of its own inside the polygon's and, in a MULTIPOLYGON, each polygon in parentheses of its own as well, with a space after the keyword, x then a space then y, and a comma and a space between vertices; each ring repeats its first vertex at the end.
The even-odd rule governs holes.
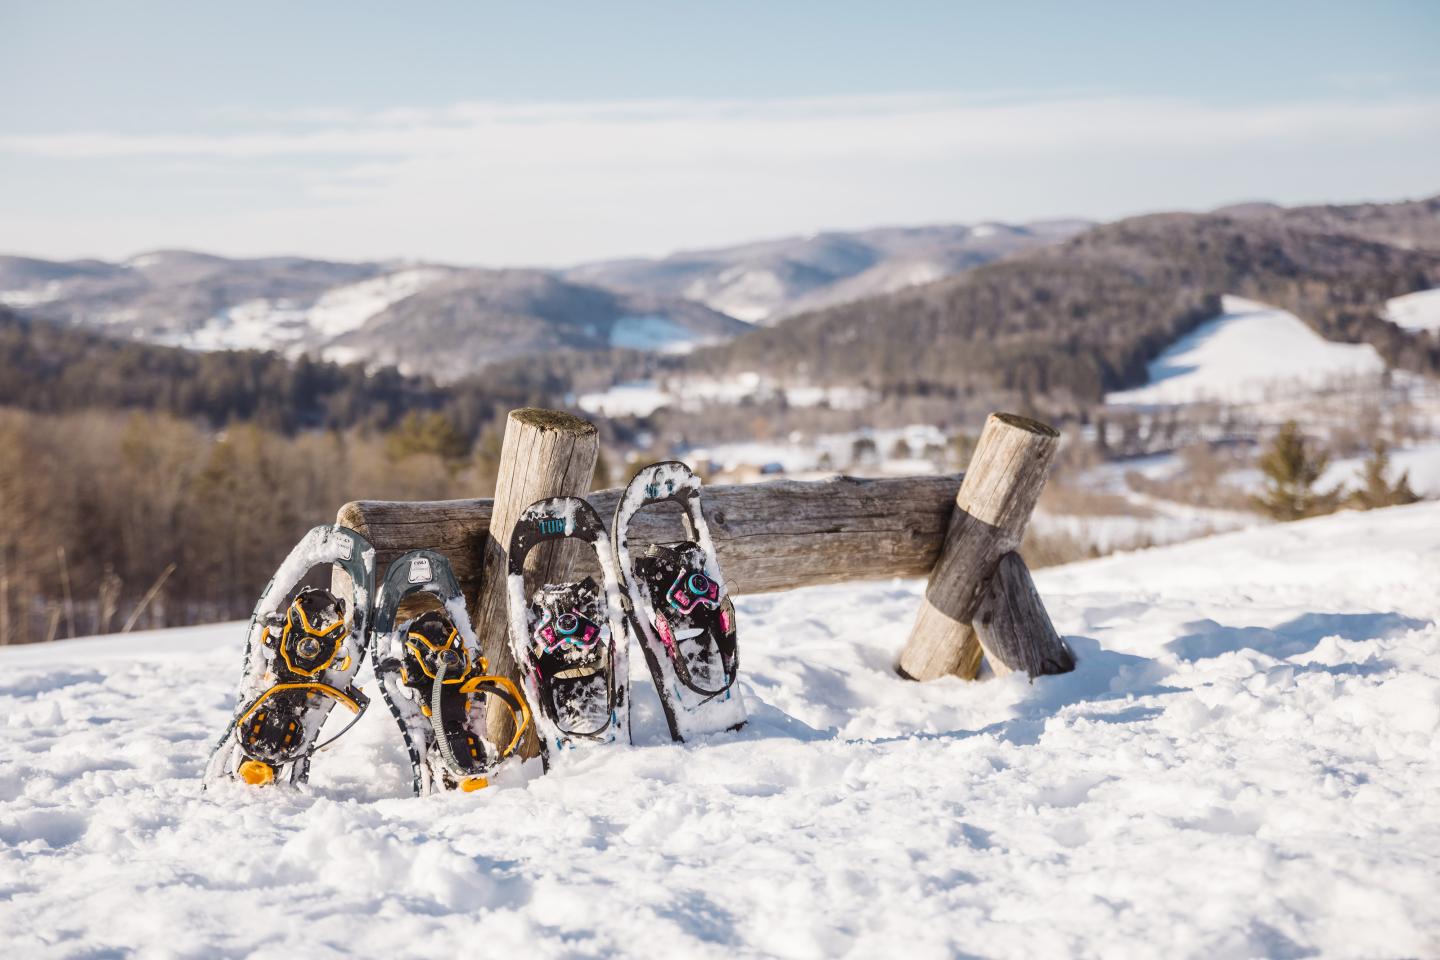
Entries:
MULTIPOLYGON (((590 489, 599 453, 599 433, 588 420, 534 407, 510 412, 500 450, 500 478, 495 482, 490 535, 484 541, 480 594, 472 610, 480 649, 490 661, 491 674, 520 681, 516 661, 510 655, 505 599, 505 553, 516 520, 537 499, 583 497, 590 489)), ((560 583, 567 579, 575 556, 575 544, 547 544, 531 550, 526 566, 539 583, 560 583)), ((491 743, 510 743, 514 734, 513 717, 510 710, 492 705, 487 718, 491 743)), ((539 754, 533 731, 521 746, 521 754, 539 754)))

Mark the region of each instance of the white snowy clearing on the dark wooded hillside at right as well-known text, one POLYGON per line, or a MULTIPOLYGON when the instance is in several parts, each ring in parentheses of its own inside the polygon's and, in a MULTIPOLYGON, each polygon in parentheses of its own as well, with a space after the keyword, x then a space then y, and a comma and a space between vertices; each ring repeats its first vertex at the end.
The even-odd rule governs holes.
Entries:
POLYGON ((1223 309, 1152 361, 1146 386, 1112 393, 1106 402, 1253 403, 1385 368, 1369 344, 1332 343, 1283 309, 1240 296, 1225 296, 1223 309))

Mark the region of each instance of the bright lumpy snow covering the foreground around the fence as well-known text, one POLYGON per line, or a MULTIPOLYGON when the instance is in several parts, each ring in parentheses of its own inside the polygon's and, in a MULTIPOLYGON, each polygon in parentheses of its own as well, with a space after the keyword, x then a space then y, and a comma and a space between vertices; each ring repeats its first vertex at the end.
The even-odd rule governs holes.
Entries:
POLYGON ((670 744, 641 685, 636 747, 425 800, 383 705, 305 789, 202 793, 240 625, 0 649, 0 943, 1437 956, 1436 544, 1418 504, 1044 570, 1080 666, 1034 684, 899 679, 919 581, 744 597, 743 733, 670 744))

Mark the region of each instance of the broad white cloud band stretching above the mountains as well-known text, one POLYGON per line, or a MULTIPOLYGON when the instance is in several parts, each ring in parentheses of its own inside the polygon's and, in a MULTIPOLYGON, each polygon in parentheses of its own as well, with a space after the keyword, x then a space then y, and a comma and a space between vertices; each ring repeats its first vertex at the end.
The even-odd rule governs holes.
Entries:
POLYGON ((121 187, 104 176, 52 184, 91 214, 46 216, 42 183, 0 199, 0 245, 559 263, 821 227, 1385 197, 1434 190, 1427 158, 1440 155, 1428 99, 461 102, 236 122, 245 132, 0 137, 0 158, 72 171, 203 161, 261 184, 304 164, 269 206, 240 210, 204 209, 194 191, 181 204, 183 184, 156 177, 143 219, 115 214, 107 190, 121 187))

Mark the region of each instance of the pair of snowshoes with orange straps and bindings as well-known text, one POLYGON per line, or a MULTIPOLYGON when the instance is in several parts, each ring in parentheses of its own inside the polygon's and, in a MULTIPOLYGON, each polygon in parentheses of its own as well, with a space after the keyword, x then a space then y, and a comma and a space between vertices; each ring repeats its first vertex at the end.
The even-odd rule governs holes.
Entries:
POLYGON ((372 596, 374 550, 356 531, 315 527, 295 545, 251 617, 235 718, 210 756, 206 784, 304 783, 311 757, 369 707, 354 684, 367 649, 410 756, 415 793, 488 784, 524 735, 530 711, 514 682, 487 672, 449 563, 429 550, 408 553, 390 564, 373 606, 372 596), (297 592, 325 564, 348 577, 348 604, 325 587, 297 592), (402 604, 412 607, 405 619, 402 604), (516 714, 516 735, 498 748, 485 740, 491 698, 516 714), (353 717, 321 741, 336 705, 353 717))

